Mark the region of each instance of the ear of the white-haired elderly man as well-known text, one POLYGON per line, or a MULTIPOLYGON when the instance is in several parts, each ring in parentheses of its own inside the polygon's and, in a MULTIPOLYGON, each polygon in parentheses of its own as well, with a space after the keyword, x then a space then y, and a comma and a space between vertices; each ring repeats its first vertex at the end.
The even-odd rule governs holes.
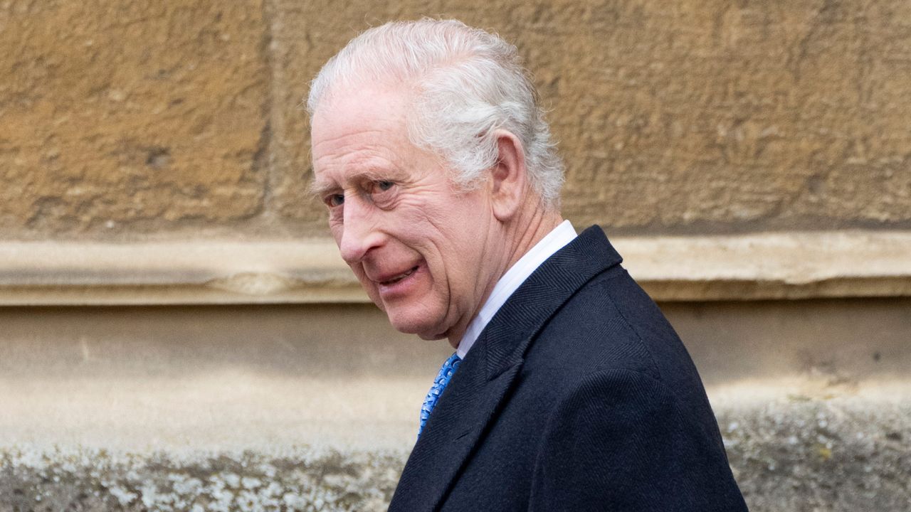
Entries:
POLYGON ((497 220, 505 222, 517 215, 527 193, 528 175, 522 142, 505 129, 494 131, 499 156, 490 169, 490 199, 497 220))

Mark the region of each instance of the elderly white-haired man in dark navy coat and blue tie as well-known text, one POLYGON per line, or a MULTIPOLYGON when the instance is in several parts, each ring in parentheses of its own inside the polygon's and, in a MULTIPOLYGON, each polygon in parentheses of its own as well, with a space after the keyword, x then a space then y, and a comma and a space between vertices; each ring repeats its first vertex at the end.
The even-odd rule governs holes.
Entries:
MULTIPOLYGON (((455 353, 390 510, 745 510, 699 375, 562 163, 516 48, 375 27, 313 80, 313 190, 395 329, 455 353)), ((429 379, 428 379, 429 380, 429 379)))

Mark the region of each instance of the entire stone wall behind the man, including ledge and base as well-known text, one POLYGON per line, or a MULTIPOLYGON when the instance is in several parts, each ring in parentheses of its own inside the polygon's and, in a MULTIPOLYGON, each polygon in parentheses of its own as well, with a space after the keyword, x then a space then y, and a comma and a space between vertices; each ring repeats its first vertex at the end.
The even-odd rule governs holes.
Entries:
POLYGON ((0 0, 0 511, 384 509, 448 351, 361 303, 302 97, 420 15, 517 44, 752 510, 911 508, 906 0, 0 0))

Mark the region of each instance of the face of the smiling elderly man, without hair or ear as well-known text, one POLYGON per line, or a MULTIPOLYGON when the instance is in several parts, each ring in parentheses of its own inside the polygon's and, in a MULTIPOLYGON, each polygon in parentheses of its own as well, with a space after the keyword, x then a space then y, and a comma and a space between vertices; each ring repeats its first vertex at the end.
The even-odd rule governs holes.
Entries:
POLYGON ((441 159, 408 141, 404 109, 388 89, 317 108, 314 189, 344 261, 390 323, 457 343, 498 277, 496 220, 485 187, 458 190, 441 159))

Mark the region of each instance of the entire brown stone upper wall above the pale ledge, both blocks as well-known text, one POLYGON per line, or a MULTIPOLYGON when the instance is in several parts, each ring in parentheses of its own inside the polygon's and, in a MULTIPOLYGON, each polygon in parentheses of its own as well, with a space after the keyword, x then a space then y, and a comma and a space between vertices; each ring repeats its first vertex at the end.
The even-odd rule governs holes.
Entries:
POLYGON ((364 27, 419 15, 517 43, 578 225, 911 227, 904 0, 5 0, 0 236, 326 234, 307 85, 364 27))

